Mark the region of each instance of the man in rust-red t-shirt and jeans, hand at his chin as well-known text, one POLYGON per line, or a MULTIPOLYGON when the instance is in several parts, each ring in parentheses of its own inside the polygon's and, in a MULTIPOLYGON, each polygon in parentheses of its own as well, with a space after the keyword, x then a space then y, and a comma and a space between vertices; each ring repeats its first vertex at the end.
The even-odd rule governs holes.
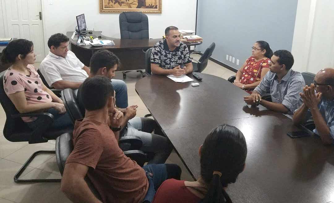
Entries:
POLYGON ((88 78, 82 84, 86 114, 75 122, 74 149, 61 180, 61 190, 72 202, 152 202, 164 180, 180 179, 181 169, 175 164, 149 164, 141 168, 124 155, 118 146, 123 113, 114 108, 114 95, 110 79, 105 76, 88 78), (102 200, 89 189, 86 175, 102 200))

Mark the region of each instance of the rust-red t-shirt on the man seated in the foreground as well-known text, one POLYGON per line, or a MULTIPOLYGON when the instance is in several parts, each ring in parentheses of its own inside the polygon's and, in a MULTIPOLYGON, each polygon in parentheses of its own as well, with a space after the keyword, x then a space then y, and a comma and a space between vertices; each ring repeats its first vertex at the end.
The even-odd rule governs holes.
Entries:
POLYGON ((90 119, 77 120, 73 144, 74 149, 66 164, 79 163, 91 167, 88 177, 103 202, 142 202, 149 185, 145 171, 124 155, 107 124, 90 119))

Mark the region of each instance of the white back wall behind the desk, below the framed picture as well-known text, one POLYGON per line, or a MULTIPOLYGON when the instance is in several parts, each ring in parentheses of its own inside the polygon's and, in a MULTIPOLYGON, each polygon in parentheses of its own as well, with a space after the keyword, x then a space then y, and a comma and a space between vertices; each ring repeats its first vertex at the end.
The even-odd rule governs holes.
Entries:
MULTIPOLYGON (((87 28, 102 31, 109 37, 120 38, 119 13, 99 13, 98 0, 53 0, 49 5, 42 0, 44 41, 46 50, 48 38, 57 32, 73 31, 75 16, 85 13, 87 28), (86 3, 88 2, 88 3, 86 3)), ((163 0, 162 14, 147 14, 150 38, 161 38, 165 28, 173 25, 179 29, 195 30, 196 0, 163 0)))

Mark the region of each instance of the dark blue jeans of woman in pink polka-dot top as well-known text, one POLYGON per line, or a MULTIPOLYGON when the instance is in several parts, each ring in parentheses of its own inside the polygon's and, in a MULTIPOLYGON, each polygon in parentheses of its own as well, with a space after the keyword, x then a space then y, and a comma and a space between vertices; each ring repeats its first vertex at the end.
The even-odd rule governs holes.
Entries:
MULTIPOLYGON (((67 111, 64 114, 59 114, 57 110, 55 110, 54 108, 51 108, 51 109, 48 109, 46 112, 51 113, 54 116, 53 123, 50 129, 61 129, 61 128, 73 126, 72 120, 67 114, 67 111)), ((41 123, 43 123, 42 118, 37 118, 34 121, 26 122, 26 124, 31 129, 35 129, 37 126, 41 125, 41 123)))

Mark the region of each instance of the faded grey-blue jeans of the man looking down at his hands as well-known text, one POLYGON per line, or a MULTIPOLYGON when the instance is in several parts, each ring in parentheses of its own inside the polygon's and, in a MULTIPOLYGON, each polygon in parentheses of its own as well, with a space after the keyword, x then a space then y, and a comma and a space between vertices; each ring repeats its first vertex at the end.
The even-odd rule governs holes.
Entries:
POLYGON ((149 164, 163 164, 169 157, 173 145, 169 139, 162 134, 155 120, 151 118, 135 117, 130 119, 121 132, 121 136, 136 135, 141 138, 143 145, 140 150, 144 152, 154 152, 155 155, 149 164), (154 130, 154 133, 152 133, 154 130))

